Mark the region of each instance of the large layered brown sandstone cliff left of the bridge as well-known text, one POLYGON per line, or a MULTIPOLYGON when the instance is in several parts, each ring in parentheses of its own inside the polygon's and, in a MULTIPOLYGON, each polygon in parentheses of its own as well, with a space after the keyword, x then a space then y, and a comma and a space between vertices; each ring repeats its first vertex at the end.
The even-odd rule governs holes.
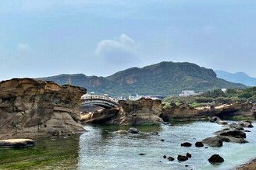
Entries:
POLYGON ((74 134, 85 88, 14 78, 0 82, 0 138, 74 134))

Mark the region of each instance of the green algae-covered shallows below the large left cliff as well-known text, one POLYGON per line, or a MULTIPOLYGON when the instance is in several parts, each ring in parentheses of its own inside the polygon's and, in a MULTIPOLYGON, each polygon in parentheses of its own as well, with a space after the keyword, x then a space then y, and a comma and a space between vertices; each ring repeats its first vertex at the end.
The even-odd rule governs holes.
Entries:
POLYGON ((76 169, 79 137, 46 137, 35 142, 34 147, 0 148, 0 169, 76 169))

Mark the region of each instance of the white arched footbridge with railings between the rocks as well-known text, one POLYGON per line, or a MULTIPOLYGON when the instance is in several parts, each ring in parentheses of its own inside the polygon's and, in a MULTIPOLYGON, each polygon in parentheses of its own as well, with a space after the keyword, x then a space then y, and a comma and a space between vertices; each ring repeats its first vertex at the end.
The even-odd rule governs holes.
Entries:
POLYGON ((109 97, 108 95, 82 95, 80 106, 101 106, 106 109, 119 107, 119 103, 116 99, 109 97))

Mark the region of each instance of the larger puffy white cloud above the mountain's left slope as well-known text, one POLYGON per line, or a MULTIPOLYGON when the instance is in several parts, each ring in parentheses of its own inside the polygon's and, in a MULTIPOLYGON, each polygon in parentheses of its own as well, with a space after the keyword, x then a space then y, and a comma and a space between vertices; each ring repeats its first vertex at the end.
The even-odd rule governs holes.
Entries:
POLYGON ((122 61, 123 59, 130 59, 137 56, 139 43, 127 36, 125 33, 121 34, 116 40, 101 40, 98 43, 95 54, 97 56, 122 61))

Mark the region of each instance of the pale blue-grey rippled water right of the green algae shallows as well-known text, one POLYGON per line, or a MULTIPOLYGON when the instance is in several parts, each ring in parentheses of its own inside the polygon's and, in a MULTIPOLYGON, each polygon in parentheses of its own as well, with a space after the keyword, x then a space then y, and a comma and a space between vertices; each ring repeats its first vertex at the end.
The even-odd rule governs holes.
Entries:
MULTIPOLYGON (((255 123, 254 123, 255 126, 255 123)), ((194 122, 161 125, 160 127, 137 127, 141 134, 116 134, 119 127, 85 126, 88 130, 80 136, 79 169, 233 169, 256 157, 256 130, 247 133, 247 144, 224 143, 222 147, 195 147, 197 141, 215 136, 221 130, 216 123, 194 122), (158 135, 149 134, 157 131, 158 135), (164 139, 162 142, 161 140, 164 139), (183 142, 192 147, 181 147, 183 142), (168 161, 163 158, 178 154, 192 154, 188 161, 168 161), (143 153, 144 155, 139 155, 143 153), (212 165, 208 158, 220 154, 225 161, 212 165), (187 165, 187 167, 186 167, 187 165)), ((122 129, 122 128, 121 128, 122 129)))

